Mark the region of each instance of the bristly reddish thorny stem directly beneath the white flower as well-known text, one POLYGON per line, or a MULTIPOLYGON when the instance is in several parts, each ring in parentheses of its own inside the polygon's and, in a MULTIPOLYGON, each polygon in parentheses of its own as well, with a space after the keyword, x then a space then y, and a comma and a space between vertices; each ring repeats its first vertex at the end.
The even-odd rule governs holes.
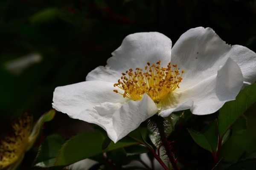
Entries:
POLYGON ((156 116, 155 117, 156 120, 154 121, 156 126, 157 126, 157 129, 158 129, 158 132, 159 132, 159 135, 160 135, 160 139, 162 141, 162 144, 166 150, 166 155, 168 156, 171 164, 172 164, 172 167, 174 170, 179 170, 179 167, 177 165, 177 162, 174 158, 174 155, 172 153, 172 150, 170 148, 170 145, 169 145, 169 142, 168 142, 168 139, 166 137, 166 133, 165 133, 165 130, 164 130, 164 119, 160 116, 156 116))

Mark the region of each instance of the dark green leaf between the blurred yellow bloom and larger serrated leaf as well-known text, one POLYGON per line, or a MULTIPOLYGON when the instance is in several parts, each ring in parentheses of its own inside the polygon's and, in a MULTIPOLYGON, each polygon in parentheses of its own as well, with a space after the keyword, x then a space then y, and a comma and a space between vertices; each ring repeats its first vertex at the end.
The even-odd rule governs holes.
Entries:
POLYGON ((52 167, 56 157, 65 140, 58 134, 48 136, 40 146, 38 155, 33 162, 33 166, 52 167))

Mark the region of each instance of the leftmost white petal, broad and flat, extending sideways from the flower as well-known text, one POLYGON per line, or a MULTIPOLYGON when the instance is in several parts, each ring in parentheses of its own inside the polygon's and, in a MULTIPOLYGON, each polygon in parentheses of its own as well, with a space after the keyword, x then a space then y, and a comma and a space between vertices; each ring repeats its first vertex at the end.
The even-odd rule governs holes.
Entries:
POLYGON ((111 82, 87 81, 55 88, 52 107, 77 119, 87 108, 104 102, 127 102, 127 98, 113 92, 111 82))

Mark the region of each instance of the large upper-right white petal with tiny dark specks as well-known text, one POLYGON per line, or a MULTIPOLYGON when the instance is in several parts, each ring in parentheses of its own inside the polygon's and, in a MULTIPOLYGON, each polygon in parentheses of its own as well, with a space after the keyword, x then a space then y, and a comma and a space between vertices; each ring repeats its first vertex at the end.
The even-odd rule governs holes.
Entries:
POLYGON ((240 45, 227 45, 211 28, 186 31, 172 48, 172 63, 186 71, 177 91, 213 76, 229 57, 240 66, 244 85, 255 82, 256 54, 253 51, 240 45))

